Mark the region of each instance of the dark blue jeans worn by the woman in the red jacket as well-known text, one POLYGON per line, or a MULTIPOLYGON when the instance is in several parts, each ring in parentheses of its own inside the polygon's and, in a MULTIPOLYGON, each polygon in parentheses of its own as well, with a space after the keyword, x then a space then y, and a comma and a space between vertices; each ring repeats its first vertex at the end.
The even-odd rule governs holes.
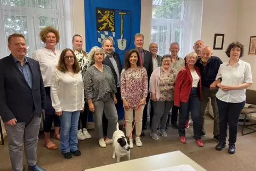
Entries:
POLYGON ((198 88, 191 89, 189 100, 181 102, 180 117, 178 118, 178 134, 185 136, 185 122, 187 119, 187 111, 190 110, 193 120, 193 130, 195 140, 201 139, 202 124, 200 114, 200 100, 198 88))

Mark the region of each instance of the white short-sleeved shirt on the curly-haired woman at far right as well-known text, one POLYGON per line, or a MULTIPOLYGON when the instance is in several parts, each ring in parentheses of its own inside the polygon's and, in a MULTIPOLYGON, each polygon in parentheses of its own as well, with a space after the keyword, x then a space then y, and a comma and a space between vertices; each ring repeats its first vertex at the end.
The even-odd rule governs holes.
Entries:
MULTIPOLYGON (((223 86, 238 86, 243 83, 252 83, 251 65, 239 59, 234 67, 229 62, 220 65, 216 80, 222 79, 223 86)), ((243 90, 218 90, 216 97, 225 102, 243 102, 246 99, 246 89, 243 90)))

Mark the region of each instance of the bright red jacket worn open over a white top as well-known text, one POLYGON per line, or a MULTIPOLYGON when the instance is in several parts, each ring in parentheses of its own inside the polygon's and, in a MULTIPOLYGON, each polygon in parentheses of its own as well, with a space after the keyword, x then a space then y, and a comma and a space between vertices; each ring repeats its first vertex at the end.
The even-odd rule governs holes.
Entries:
MULTIPOLYGON (((193 79, 188 65, 185 66, 185 69, 185 71, 180 71, 177 75, 174 89, 174 106, 180 106, 180 102, 187 102, 189 100, 193 79)), ((194 69, 200 78, 198 88, 200 92, 200 99, 202 100, 200 69, 197 66, 194 66, 194 69)))

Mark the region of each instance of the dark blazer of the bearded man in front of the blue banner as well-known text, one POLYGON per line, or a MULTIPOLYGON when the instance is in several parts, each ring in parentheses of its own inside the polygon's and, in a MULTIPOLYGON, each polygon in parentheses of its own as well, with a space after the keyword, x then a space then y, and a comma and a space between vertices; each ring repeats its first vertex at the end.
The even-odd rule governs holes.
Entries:
MULTIPOLYGON (((117 64, 117 67, 118 67, 118 72, 119 72, 119 76, 121 77, 121 71, 122 71, 122 64, 121 64, 121 59, 120 59, 120 56, 113 52, 113 58, 115 59, 116 61, 116 64, 117 64)), ((116 71, 114 69, 114 66, 112 64, 112 62, 110 61, 109 59, 109 56, 107 56, 104 61, 103 61, 103 64, 105 65, 108 65, 113 73, 113 76, 114 76, 114 79, 115 79, 115 82, 116 82, 116 86, 117 86, 117 75, 116 75, 116 71)))

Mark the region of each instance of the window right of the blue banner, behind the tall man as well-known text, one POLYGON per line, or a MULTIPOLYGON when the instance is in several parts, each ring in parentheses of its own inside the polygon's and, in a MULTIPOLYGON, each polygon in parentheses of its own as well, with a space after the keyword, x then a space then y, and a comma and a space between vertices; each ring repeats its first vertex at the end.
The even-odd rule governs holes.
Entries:
POLYGON ((183 15, 186 0, 153 0, 151 41, 157 42, 158 54, 169 54, 172 42, 180 44, 183 38, 183 15))

